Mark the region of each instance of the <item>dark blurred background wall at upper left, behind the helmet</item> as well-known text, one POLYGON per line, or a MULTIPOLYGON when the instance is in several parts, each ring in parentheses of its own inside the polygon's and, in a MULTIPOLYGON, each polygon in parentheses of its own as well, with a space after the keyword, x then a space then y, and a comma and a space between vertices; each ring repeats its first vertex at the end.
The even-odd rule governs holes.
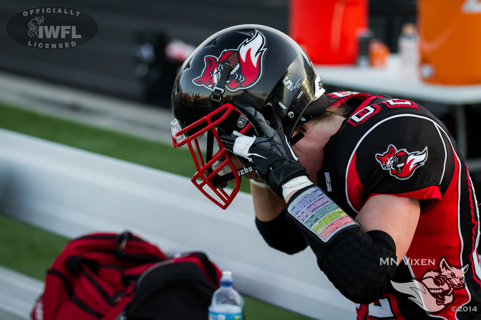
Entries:
POLYGON ((287 33, 289 0, 1 0, 0 69, 103 93, 138 99, 132 37, 137 30, 162 31, 194 46, 236 24, 265 24, 287 33), (5 33, 15 13, 38 6, 72 7, 91 15, 99 33, 75 49, 23 47, 5 33))

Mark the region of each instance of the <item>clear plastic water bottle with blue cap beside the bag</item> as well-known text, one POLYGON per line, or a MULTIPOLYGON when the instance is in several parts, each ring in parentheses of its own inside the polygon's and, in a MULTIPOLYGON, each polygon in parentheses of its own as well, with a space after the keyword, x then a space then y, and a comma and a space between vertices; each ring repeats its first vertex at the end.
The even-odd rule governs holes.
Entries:
POLYGON ((215 290, 209 307, 209 320, 242 320, 244 299, 232 287, 232 272, 223 271, 220 288, 215 290))

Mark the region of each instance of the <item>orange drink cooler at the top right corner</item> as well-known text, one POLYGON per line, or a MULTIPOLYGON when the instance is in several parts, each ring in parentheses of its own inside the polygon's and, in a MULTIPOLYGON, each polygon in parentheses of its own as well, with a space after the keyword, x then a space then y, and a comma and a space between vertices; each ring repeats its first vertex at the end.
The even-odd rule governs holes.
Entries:
POLYGON ((421 79, 481 83, 481 1, 419 0, 421 79))

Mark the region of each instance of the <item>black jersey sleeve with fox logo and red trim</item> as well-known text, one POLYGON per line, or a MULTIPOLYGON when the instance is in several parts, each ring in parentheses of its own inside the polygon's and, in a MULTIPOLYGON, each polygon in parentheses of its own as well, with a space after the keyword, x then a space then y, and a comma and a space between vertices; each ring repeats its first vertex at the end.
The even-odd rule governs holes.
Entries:
POLYGON ((358 142, 347 169, 346 189, 358 207, 380 193, 440 199, 445 191, 443 176, 452 175, 453 167, 445 129, 426 117, 396 115, 375 124, 358 142))

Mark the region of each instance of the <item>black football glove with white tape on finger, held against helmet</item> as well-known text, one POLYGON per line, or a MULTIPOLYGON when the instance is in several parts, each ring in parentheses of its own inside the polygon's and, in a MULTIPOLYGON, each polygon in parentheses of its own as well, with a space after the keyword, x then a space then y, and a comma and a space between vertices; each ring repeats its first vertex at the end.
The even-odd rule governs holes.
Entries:
POLYGON ((237 131, 223 133, 220 139, 224 147, 249 160, 259 177, 274 193, 284 198, 282 185, 292 178, 307 176, 307 173, 282 131, 280 119, 273 115, 269 118, 269 125, 264 116, 245 101, 236 100, 234 105, 252 123, 257 137, 248 137, 237 131))

